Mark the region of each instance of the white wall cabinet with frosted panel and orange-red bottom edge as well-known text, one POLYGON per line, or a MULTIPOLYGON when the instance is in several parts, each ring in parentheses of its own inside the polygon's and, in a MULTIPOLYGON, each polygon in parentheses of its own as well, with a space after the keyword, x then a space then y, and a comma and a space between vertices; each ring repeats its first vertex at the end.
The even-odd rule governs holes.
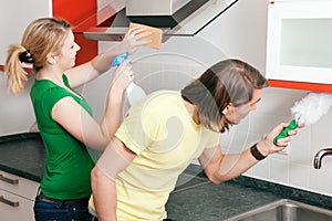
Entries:
POLYGON ((332 91, 332 0, 276 0, 268 6, 269 81, 332 91))

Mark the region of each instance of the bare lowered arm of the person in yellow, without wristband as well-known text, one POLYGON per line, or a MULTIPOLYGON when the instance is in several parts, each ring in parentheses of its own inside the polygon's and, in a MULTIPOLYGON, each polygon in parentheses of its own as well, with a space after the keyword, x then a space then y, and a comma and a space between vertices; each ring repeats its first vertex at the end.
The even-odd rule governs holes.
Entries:
POLYGON ((91 172, 94 206, 100 221, 116 221, 115 177, 136 157, 117 138, 106 147, 91 172))

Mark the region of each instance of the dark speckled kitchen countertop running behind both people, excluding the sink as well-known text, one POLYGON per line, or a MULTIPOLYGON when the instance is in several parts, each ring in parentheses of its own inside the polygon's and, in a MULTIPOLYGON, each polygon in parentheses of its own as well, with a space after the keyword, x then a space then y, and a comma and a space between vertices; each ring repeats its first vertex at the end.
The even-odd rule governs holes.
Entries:
MULTIPOLYGON (((41 180, 45 149, 38 133, 0 137, 0 170, 41 180)), ((190 165, 181 173, 166 210, 168 218, 177 221, 221 221, 284 198, 332 210, 331 197, 245 176, 210 183, 198 165, 190 165)))

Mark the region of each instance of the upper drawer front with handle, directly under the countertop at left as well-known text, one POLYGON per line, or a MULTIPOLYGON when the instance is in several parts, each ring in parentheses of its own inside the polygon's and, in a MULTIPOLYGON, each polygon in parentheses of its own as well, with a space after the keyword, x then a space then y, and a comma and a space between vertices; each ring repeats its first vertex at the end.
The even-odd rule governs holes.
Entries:
POLYGON ((39 183, 0 170, 0 189, 34 200, 39 183))

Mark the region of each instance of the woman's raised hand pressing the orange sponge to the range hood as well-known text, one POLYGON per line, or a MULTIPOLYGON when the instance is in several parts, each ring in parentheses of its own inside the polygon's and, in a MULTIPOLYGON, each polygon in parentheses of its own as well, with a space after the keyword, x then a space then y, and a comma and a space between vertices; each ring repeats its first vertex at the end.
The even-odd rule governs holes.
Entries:
POLYGON ((144 39, 145 36, 151 35, 151 32, 144 31, 145 29, 139 27, 129 29, 121 42, 123 52, 132 54, 138 49, 138 46, 151 43, 152 40, 144 39))

